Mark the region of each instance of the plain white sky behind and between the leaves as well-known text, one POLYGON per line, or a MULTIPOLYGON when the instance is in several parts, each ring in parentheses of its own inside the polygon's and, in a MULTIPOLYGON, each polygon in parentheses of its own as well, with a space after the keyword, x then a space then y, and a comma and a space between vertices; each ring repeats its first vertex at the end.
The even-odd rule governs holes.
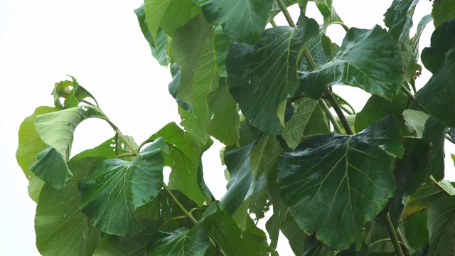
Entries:
MULTIPOLYGON (((53 105, 50 92, 55 82, 70 79, 65 75, 75 76, 96 97, 112 122, 139 143, 168 122, 179 122, 176 102, 167 90, 169 70, 151 56, 133 12, 141 2, 0 1, 0 255, 39 255, 33 227, 36 203, 28 197, 28 181, 16 162, 15 152, 19 125, 36 107, 53 105)), ((383 14, 392 3, 333 2, 343 21, 358 28, 373 28, 376 23, 384 27, 383 14)), ((309 3, 308 12, 321 23, 313 3, 309 3)), ((431 3, 421 0, 414 14, 414 26, 430 12, 431 3)), ((286 25, 283 20, 278 23, 286 25)), ((343 35, 340 26, 329 28, 328 36, 339 45, 343 35)), ((421 47, 429 46, 430 35, 431 29, 426 29, 421 47)), ((424 72, 417 80, 419 87, 429 79, 428 71, 424 72)), ((358 111, 368 100, 352 87, 333 90, 350 99, 358 111)), ((105 122, 88 119, 76 129, 73 155, 113 135, 105 122)), ((214 147, 203 160, 205 181, 220 199, 225 192, 225 178, 218 150, 219 146, 214 147)), ((446 155, 450 153, 455 153, 453 147, 446 149, 446 155)), ((449 157, 446 170, 451 177, 453 166, 449 157)), ((280 251, 291 255, 285 246, 280 251)))

